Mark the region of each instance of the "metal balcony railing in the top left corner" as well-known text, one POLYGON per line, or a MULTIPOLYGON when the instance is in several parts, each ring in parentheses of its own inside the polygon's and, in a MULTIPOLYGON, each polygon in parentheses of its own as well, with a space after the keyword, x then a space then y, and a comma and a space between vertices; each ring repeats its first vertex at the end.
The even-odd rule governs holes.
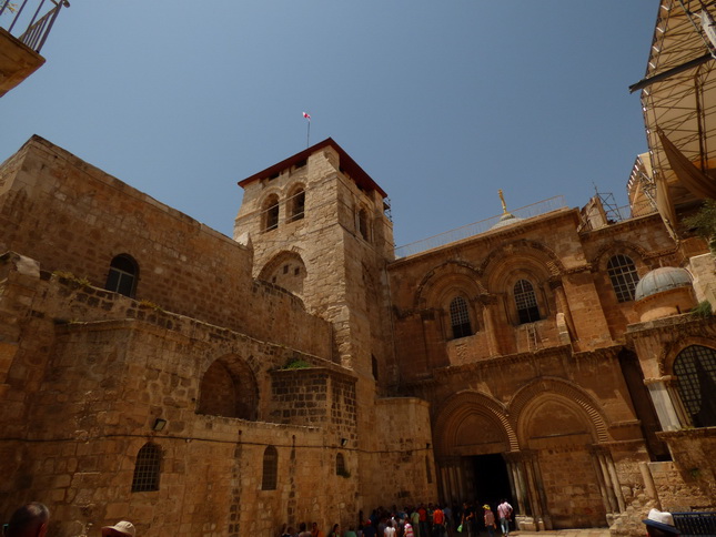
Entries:
POLYGON ((49 2, 47 0, 16 0, 14 2, 0 0, 0 28, 6 27, 6 19, 9 24, 7 30, 11 34, 16 31, 16 27, 24 28, 18 39, 40 53, 63 7, 69 8, 70 2, 68 0, 50 0, 49 2), (30 17, 32 6, 36 4, 37 9, 30 17), (27 11, 26 8, 28 8, 27 11))

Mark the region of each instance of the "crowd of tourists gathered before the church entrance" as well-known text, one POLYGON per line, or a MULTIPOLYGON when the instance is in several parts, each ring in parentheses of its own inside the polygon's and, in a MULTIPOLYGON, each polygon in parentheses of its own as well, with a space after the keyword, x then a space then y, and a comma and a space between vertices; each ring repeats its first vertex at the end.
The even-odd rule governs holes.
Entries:
POLYGON ((475 505, 465 501, 462 506, 440 506, 437 504, 420 504, 400 509, 379 507, 370 516, 359 513, 357 523, 347 528, 334 524, 325 533, 316 523, 307 529, 306 524, 301 524, 296 530, 284 525, 281 537, 477 537, 481 531, 487 531, 490 537, 495 537, 500 528, 504 537, 510 535, 510 521, 513 509, 507 500, 503 499, 495 511, 488 504, 475 505), (500 526, 497 524, 500 523, 500 526))

